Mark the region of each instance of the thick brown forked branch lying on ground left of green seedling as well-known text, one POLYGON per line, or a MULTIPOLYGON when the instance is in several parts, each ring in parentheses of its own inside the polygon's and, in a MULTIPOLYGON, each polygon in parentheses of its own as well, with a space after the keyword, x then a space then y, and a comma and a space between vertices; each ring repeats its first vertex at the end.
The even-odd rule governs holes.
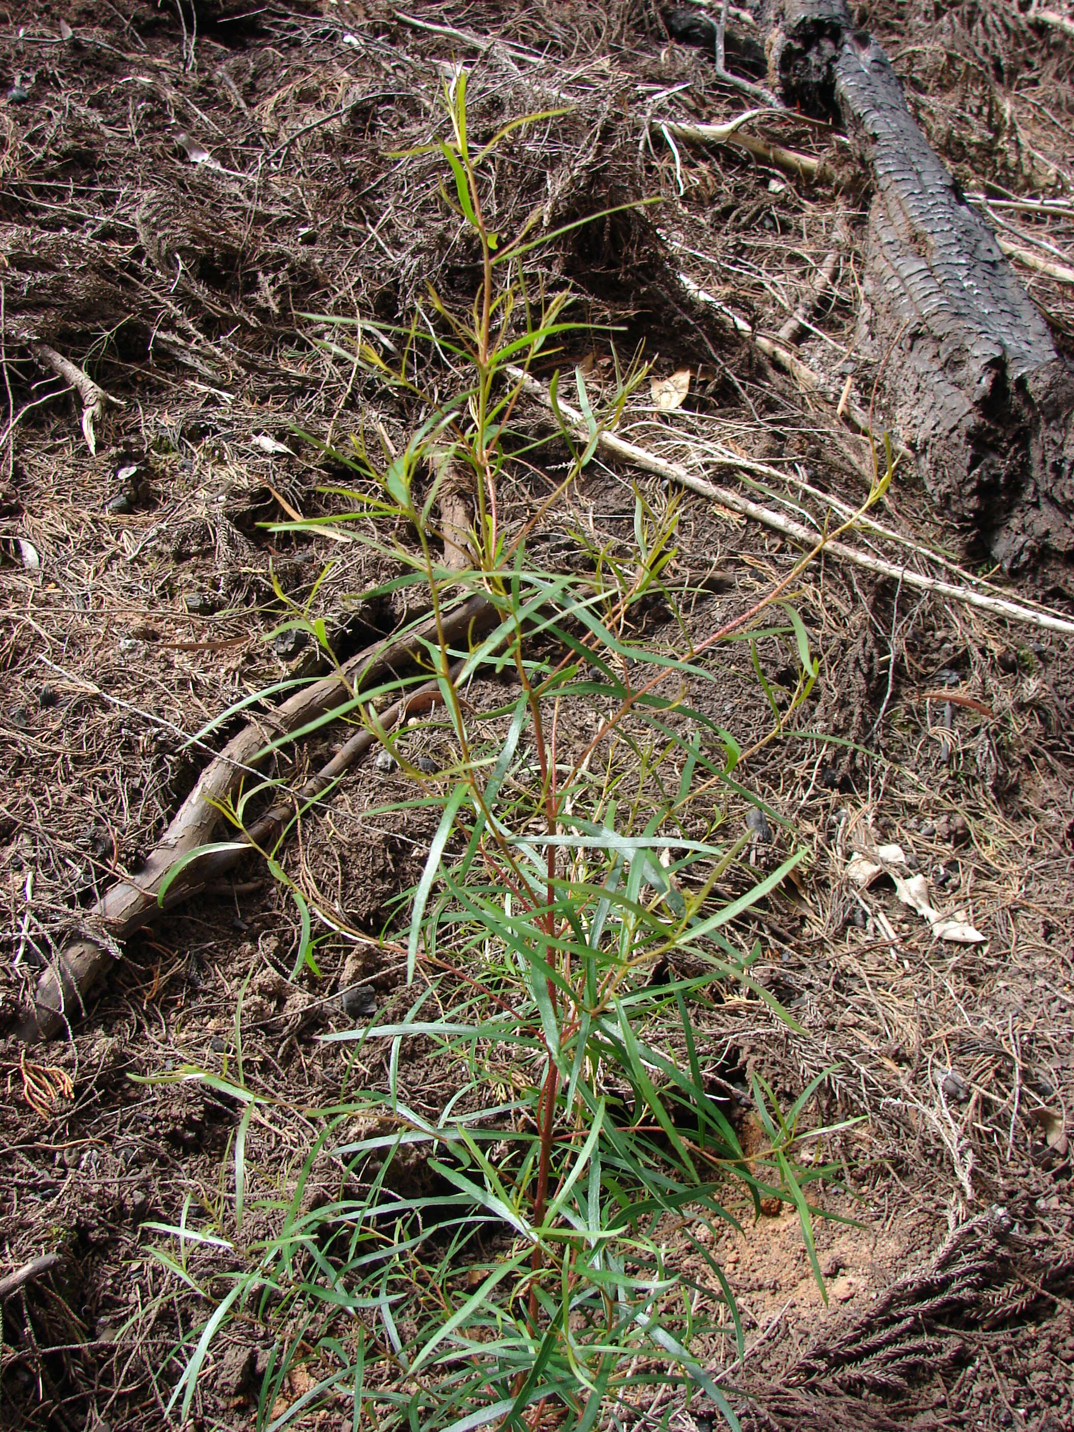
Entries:
MULTIPOLYGON (((471 629, 483 629, 491 621, 494 609, 487 597, 474 596, 454 611, 442 617, 445 640, 458 642, 471 629)), ((239 788, 242 778, 256 766, 263 756, 266 740, 308 727, 322 716, 355 697, 355 686, 371 686, 392 674, 397 667, 412 664, 422 642, 437 639, 437 624, 427 617, 410 633, 395 642, 367 647, 351 657, 338 673, 314 682, 296 696, 278 706, 272 713, 255 717, 238 736, 228 742, 223 750, 209 763, 198 785, 183 802, 175 821, 150 852, 145 866, 136 876, 120 881, 103 895, 87 918, 102 927, 102 939, 80 939, 69 945, 53 965, 40 977, 34 992, 34 1008, 23 1021, 19 1034, 23 1040, 52 1038, 79 1018, 84 1000, 100 974, 113 962, 116 944, 129 939, 147 924, 160 909, 158 892, 176 861, 206 845, 216 823, 221 821, 221 805, 239 788), (268 735, 266 735, 268 733, 268 735)), ((388 726, 410 713, 414 702, 422 697, 427 687, 412 692, 381 715, 381 723, 388 726)), ((424 697, 422 697, 424 699, 424 697)), ((319 795, 358 756, 368 750, 374 736, 361 730, 337 752, 335 758, 299 793, 299 800, 319 795)), ((279 839, 284 826, 294 815, 295 798, 286 803, 274 805, 248 832, 249 851, 255 845, 271 845, 279 839)), ((175 881, 165 896, 163 906, 170 908, 189 899, 206 884, 218 879, 222 872, 238 863, 248 849, 219 851, 203 861, 193 862, 175 881)))

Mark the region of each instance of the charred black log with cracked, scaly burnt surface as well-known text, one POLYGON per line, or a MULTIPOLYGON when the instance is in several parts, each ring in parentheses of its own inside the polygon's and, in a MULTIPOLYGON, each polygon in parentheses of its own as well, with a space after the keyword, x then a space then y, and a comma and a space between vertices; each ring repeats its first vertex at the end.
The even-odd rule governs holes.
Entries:
POLYGON ((974 556, 1074 554, 1074 372, 845 0, 773 0, 770 82, 842 122, 872 176, 858 352, 974 556))

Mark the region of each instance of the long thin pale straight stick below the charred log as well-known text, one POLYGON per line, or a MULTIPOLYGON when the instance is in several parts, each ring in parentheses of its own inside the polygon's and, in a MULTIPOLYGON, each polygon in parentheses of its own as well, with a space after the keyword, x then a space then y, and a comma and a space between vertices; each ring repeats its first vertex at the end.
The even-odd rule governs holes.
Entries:
MULTIPOLYGON (((551 410, 551 398, 543 384, 537 382, 536 378, 530 378, 528 374, 524 374, 518 368, 511 369, 511 375, 517 382, 523 384, 527 392, 537 398, 546 408, 551 410)), ((557 405, 564 418, 576 425, 579 437, 589 438, 589 425, 583 415, 564 402, 563 398, 557 398, 557 405)), ((816 546, 818 534, 811 531, 803 523, 783 517, 782 513, 776 513, 770 507, 752 503, 748 497, 742 497, 729 487, 717 487, 703 477, 696 477, 679 463, 670 463, 667 458, 657 457, 656 453, 637 447, 634 442, 627 442, 616 437, 614 432, 601 431, 597 438, 597 447, 611 457, 633 463, 634 467, 640 467, 646 473, 653 473, 670 483, 679 483, 680 487, 686 487, 692 493, 699 493, 702 497, 707 497, 733 513, 740 513, 743 517, 749 517, 763 527, 789 537, 792 541, 803 543, 811 548, 816 546)), ((1007 617, 1008 621, 1020 621, 1025 626, 1042 627, 1045 632, 1061 632, 1064 636, 1074 636, 1074 621, 1050 616, 1047 611, 1034 611, 1031 607, 1024 607, 1017 601, 990 597, 965 586, 955 586, 951 581, 927 577, 915 571, 914 567, 902 567, 898 563, 885 561, 884 557, 874 557, 872 553, 859 551, 856 547, 848 547, 841 541, 829 541, 823 550, 825 556, 838 557, 841 561, 846 561, 853 567, 862 567, 865 571, 872 571, 879 577, 891 577, 892 580, 902 581, 905 586, 916 587, 919 591, 931 591, 938 597, 961 601, 965 606, 977 607, 992 616, 1007 617)))

